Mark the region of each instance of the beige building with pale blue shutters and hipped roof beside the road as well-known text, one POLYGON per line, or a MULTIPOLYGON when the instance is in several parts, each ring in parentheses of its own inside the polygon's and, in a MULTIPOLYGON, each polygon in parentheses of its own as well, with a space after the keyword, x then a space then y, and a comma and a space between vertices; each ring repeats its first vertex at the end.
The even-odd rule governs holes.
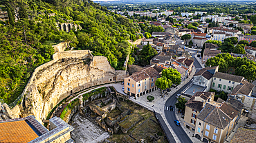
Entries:
POLYGON ((206 102, 197 115, 194 137, 203 142, 224 142, 235 127, 239 111, 227 102, 206 102))

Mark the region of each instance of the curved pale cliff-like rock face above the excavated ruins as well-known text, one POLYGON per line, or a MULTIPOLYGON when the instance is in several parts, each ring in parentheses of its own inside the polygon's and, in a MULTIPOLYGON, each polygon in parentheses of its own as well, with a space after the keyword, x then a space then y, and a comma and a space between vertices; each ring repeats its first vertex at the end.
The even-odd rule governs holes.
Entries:
POLYGON ((116 71, 106 57, 93 57, 89 50, 57 52, 53 54, 53 61, 35 69, 23 92, 23 109, 19 112, 16 106, 12 113, 23 117, 35 115, 42 122, 66 96, 125 77, 125 71, 116 71))

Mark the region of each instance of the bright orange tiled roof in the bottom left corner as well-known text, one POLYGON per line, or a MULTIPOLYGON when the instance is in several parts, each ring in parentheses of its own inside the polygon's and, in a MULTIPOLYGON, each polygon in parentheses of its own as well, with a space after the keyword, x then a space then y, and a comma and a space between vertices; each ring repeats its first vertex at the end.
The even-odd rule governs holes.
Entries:
POLYGON ((26 120, 0 123, 0 142, 30 142, 37 137, 26 120))

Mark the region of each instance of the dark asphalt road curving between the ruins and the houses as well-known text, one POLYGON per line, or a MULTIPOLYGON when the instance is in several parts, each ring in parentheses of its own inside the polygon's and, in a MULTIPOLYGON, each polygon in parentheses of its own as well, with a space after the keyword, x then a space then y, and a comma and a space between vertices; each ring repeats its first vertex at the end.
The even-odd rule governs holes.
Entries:
MULTIPOLYGON (((199 69, 202 68, 201 65, 199 64, 199 62, 196 60, 196 58, 194 58, 194 66, 196 67, 196 72, 198 72, 199 69)), ((165 107, 170 107, 170 105, 172 105, 174 107, 176 100, 177 100, 176 94, 180 94, 181 91, 183 91, 191 83, 192 83, 192 80, 190 80, 190 82, 188 82, 185 86, 183 86, 181 89, 179 89, 179 91, 176 91, 176 93, 174 93, 173 96, 168 98, 167 101, 165 102, 165 107)), ((176 119, 174 111, 165 110, 165 117, 166 117, 167 121, 169 122, 170 126, 172 126, 172 129, 174 130, 174 132, 179 137, 179 140, 181 140, 182 143, 190 143, 190 142, 192 143, 192 141, 190 140, 190 137, 188 137, 188 135, 185 133, 185 131, 182 129, 182 127, 176 126, 176 124, 174 123, 174 120, 176 119)))

